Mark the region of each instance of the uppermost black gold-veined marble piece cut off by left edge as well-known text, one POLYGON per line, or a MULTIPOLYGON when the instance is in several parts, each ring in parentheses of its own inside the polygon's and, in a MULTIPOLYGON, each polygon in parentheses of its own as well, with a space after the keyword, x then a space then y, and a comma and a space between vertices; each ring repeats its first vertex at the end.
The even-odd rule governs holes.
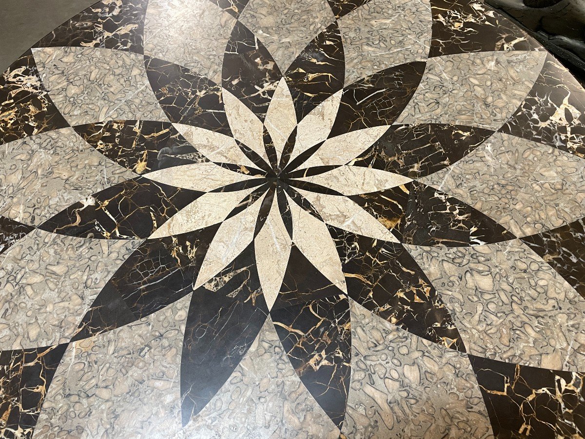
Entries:
POLYGON ((27 50, 0 77, 0 145, 69 126, 39 76, 27 50))

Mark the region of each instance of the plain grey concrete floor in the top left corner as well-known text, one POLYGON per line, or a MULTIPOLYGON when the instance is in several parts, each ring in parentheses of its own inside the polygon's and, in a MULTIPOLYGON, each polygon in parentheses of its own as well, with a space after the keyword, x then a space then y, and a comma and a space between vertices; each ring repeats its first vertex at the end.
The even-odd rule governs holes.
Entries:
POLYGON ((1 0, 0 72, 47 33, 97 0, 1 0))

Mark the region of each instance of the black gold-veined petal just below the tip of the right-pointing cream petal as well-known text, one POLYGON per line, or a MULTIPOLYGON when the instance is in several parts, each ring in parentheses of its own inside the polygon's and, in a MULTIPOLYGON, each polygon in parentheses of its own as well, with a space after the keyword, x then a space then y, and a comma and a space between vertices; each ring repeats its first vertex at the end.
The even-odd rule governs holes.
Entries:
POLYGON ((349 198, 407 244, 460 247, 516 238, 470 205, 418 181, 349 198))

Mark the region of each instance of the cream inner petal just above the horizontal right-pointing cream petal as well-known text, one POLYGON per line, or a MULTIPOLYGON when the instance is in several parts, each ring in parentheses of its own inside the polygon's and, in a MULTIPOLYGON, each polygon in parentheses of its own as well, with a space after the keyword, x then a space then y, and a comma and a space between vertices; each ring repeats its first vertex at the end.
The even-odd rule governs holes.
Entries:
POLYGON ((321 148, 301 167, 330 166, 349 163, 364 150, 370 148, 386 131, 388 125, 364 128, 325 140, 321 148))

